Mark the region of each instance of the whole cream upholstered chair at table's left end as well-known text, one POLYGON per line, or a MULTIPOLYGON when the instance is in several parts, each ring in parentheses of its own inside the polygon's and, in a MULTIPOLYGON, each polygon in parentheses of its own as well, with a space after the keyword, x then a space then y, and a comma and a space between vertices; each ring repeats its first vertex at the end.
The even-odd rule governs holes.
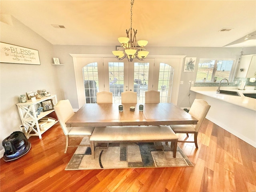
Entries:
MULTIPOLYGON (((60 126, 64 132, 64 135, 66 136, 66 148, 64 153, 67 152, 68 147, 78 147, 78 146, 90 146, 90 144, 81 144, 81 145, 72 145, 70 146, 69 138, 70 137, 84 137, 88 136, 90 140, 90 136, 92 135, 92 132, 94 130, 94 127, 66 127, 66 121, 74 115, 74 111, 72 109, 72 106, 70 104, 69 100, 60 100, 56 106, 54 106, 55 113, 58 117, 58 120, 60 122, 60 126)), ((91 147, 91 146, 90 146, 91 147)), ((91 148, 91 150, 94 150, 91 148)))

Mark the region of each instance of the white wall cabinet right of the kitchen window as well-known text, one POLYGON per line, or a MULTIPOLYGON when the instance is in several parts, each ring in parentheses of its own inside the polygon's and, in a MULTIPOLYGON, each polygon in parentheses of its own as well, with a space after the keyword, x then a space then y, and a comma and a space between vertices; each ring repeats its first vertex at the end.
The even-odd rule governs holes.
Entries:
POLYGON ((256 54, 243 55, 236 77, 251 78, 255 77, 256 72, 256 54))

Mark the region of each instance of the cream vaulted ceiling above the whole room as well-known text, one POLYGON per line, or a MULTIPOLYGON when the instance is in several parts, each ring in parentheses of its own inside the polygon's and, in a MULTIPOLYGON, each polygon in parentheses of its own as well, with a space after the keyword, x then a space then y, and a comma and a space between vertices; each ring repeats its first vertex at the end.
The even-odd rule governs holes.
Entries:
MULTIPOLYGON (((0 0, 0 11, 54 45, 115 46, 130 28, 130 0, 0 0)), ((148 46, 222 47, 256 33, 256 1, 135 0, 132 27, 148 46)))

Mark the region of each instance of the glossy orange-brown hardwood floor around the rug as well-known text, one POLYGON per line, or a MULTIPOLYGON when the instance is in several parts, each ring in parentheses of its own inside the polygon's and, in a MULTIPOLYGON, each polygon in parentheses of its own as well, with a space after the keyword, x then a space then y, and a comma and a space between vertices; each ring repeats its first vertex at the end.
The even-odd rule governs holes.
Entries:
MULTIPOLYGON (((186 138, 186 134, 180 134, 186 138)), ((189 139, 193 137, 189 137, 189 139)), ((56 124, 23 157, 0 160, 1 192, 255 192, 256 148, 205 120, 198 149, 179 143, 194 167, 65 171, 76 148, 64 154, 56 124)))

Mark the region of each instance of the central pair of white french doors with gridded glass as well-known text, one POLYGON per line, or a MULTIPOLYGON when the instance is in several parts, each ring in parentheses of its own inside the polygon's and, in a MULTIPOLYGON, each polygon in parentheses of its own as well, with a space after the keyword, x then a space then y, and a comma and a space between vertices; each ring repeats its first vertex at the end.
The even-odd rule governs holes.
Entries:
POLYGON ((103 58, 104 90, 113 93, 113 103, 121 102, 121 93, 134 91, 137 102, 144 102, 144 91, 153 86, 154 59, 140 62, 103 58))

